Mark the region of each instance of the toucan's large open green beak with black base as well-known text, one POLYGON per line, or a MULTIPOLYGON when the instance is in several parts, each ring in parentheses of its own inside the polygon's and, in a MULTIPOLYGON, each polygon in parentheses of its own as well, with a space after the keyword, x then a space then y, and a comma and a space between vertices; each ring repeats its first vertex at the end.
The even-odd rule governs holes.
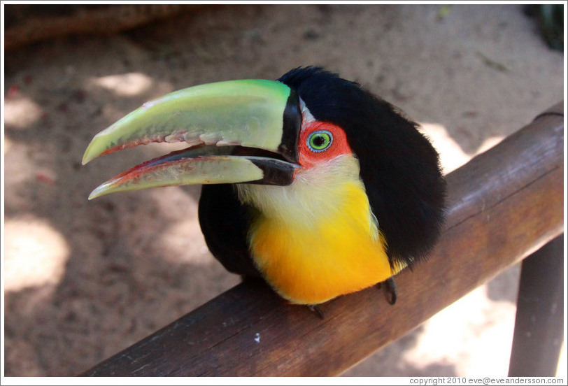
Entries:
POLYGON ((297 94, 273 80, 231 80, 172 92, 94 136, 83 164, 152 142, 187 142, 189 148, 115 176, 89 199, 171 185, 290 185, 298 167, 300 128, 297 94))

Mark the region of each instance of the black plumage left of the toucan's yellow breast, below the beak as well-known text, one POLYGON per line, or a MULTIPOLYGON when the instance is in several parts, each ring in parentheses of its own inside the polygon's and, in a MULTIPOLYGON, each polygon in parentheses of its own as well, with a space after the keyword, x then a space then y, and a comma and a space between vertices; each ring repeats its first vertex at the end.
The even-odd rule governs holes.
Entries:
POLYGON ((260 277, 248 248, 250 208, 241 204, 234 185, 203 185, 199 224, 207 247, 227 271, 260 277))

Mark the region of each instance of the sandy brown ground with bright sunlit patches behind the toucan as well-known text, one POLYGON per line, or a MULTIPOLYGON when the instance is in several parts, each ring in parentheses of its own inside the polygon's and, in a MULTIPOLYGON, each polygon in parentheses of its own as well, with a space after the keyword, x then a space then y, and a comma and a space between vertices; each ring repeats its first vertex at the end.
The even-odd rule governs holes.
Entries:
MULTIPOLYGON (((5 57, 4 369, 73 376, 239 282, 208 252, 199 186, 87 201, 164 148, 80 161, 94 134, 183 87, 320 64, 395 103, 446 171, 563 98, 562 52, 522 6, 209 6, 5 57)), ((170 149, 169 149, 170 150, 170 149)), ((496 257, 497 258, 497 257, 496 257)), ((518 267, 346 376, 506 376, 518 267)))

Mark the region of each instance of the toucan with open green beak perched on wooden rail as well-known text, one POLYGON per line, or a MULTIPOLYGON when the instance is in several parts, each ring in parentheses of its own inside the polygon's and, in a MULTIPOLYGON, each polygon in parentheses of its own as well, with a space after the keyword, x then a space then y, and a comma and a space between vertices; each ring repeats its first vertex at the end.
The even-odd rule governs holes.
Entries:
POLYGON ((278 80, 196 85, 99 132, 83 164, 155 142, 188 148, 93 190, 203 184, 199 222, 213 256, 316 306, 423 261, 439 238, 446 183, 418 124, 362 85, 317 66, 278 80))

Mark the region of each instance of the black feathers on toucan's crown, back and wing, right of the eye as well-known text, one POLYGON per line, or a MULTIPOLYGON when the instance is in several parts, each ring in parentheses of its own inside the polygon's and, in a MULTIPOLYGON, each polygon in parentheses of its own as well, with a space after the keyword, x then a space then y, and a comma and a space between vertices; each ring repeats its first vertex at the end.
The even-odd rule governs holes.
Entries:
POLYGON ((390 264, 425 257, 443 224, 446 182, 418 125, 360 84, 320 67, 293 69, 278 80, 296 90, 316 120, 346 131, 390 264))

